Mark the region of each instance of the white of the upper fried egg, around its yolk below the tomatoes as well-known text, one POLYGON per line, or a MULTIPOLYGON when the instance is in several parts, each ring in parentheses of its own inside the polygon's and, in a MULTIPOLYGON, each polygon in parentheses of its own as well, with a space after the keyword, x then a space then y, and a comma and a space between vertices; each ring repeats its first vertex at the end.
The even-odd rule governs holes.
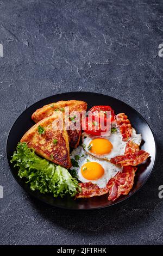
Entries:
MULTIPOLYGON (((98 155, 98 154, 92 153, 88 149, 91 141, 93 139, 96 139, 96 138, 101 138, 101 137, 100 136, 92 136, 92 135, 89 135, 89 134, 87 134, 85 132, 82 133, 82 142, 83 142, 83 145, 84 145, 84 149, 90 155, 96 156, 96 157, 98 157, 98 159, 105 159, 105 160, 108 160, 108 161, 112 157, 124 155, 125 150, 126 150, 127 142, 123 141, 122 135, 121 135, 121 133, 120 133, 120 131, 118 129, 117 129, 116 132, 111 133, 110 136, 102 137, 102 138, 105 138, 108 141, 110 141, 111 144, 112 144, 112 149, 111 149, 109 154, 98 155)), ((134 143, 140 145, 140 143, 141 143, 141 134, 136 134, 135 129, 133 129, 132 136, 129 139, 133 139, 134 143)))

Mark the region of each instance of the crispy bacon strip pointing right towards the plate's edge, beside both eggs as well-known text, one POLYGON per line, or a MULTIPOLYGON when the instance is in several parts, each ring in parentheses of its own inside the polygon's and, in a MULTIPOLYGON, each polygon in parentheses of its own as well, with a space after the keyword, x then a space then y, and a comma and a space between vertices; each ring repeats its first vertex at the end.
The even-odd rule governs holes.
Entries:
POLYGON ((116 156, 110 159, 111 163, 120 164, 121 166, 137 166, 146 161, 149 153, 144 150, 139 150, 134 153, 127 153, 123 156, 116 156))

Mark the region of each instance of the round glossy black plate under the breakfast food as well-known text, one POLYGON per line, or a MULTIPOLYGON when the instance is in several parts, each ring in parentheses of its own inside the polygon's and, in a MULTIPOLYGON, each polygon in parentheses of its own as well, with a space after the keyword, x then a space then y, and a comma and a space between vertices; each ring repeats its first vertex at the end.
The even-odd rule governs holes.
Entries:
POLYGON ((12 175, 20 184, 24 190, 30 193, 32 196, 42 200, 43 202, 57 206, 60 208, 66 209, 98 209, 104 208, 107 206, 111 206, 117 203, 122 202, 122 200, 129 198, 132 196, 137 190, 142 187, 145 182, 148 180, 149 175, 151 174, 155 159, 156 159, 156 144, 154 140, 153 133, 147 124, 146 120, 132 107, 127 105, 126 103, 115 99, 114 97, 106 96, 103 94, 96 94, 96 93, 87 93, 87 92, 74 92, 74 93, 63 93, 57 94, 45 99, 42 99, 32 106, 27 108, 20 117, 17 118, 14 125, 11 127, 9 132, 9 136, 7 139, 7 159, 8 164, 11 170, 12 175), (137 169, 134 186, 130 193, 127 196, 123 196, 118 198, 115 202, 110 202, 107 200, 107 196, 101 197, 94 197, 89 199, 77 199, 74 200, 71 197, 65 198, 53 198, 52 194, 41 194, 39 191, 32 191, 30 190, 29 184, 23 179, 20 179, 17 176, 17 169, 14 168, 13 164, 10 163, 11 156, 15 151, 17 143, 20 141, 21 137, 24 133, 34 125, 31 115, 37 109, 42 107, 43 105, 47 105, 52 102, 57 102, 59 100, 84 100, 88 103, 88 108, 90 109, 92 106, 95 105, 110 105, 114 110, 115 113, 124 112, 128 115, 129 120, 131 121, 132 126, 136 129, 137 133, 141 133, 143 143, 142 149, 146 150, 150 154, 150 158, 144 164, 140 164, 139 168, 137 169))

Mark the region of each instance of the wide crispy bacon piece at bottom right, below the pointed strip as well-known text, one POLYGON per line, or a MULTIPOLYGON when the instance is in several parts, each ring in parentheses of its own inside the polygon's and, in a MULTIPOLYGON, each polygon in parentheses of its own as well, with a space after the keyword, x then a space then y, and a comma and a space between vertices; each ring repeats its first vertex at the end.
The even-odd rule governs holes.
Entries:
POLYGON ((134 177, 137 167, 124 166, 122 172, 118 172, 114 178, 109 181, 108 200, 115 201, 122 194, 128 194, 133 187, 134 177))

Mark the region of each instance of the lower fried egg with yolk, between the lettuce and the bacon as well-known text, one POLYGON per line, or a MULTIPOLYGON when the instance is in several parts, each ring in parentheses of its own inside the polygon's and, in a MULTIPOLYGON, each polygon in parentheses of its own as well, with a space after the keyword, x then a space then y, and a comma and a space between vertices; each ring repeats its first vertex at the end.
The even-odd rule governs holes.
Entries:
POLYGON ((122 171, 122 167, 88 155, 81 146, 72 151, 70 158, 73 165, 70 169, 76 170, 78 180, 91 181, 100 188, 105 187, 111 178, 122 171))

